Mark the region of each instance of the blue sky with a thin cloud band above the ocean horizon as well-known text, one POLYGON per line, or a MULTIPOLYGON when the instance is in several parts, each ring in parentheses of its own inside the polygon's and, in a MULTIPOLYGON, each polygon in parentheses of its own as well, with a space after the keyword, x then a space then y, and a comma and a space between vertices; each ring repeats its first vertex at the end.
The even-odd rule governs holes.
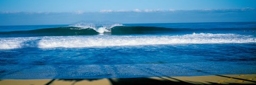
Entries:
POLYGON ((1 0, 0 25, 255 22, 255 0, 1 0))

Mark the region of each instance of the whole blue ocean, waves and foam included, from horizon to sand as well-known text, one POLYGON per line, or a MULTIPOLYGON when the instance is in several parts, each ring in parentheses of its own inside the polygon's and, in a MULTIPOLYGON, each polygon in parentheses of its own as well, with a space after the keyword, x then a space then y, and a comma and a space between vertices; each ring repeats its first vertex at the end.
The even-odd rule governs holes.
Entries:
POLYGON ((0 26, 0 79, 256 73, 256 22, 0 26))

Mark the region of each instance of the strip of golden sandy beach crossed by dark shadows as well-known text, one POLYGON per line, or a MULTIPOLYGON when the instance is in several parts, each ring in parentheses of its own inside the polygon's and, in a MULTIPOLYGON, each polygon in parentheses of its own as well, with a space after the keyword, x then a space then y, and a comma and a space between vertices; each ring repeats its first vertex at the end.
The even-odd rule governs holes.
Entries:
POLYGON ((59 85, 59 84, 256 84, 256 74, 206 75, 196 77, 150 77, 150 78, 111 78, 111 79, 4 79, 1 85, 59 85))

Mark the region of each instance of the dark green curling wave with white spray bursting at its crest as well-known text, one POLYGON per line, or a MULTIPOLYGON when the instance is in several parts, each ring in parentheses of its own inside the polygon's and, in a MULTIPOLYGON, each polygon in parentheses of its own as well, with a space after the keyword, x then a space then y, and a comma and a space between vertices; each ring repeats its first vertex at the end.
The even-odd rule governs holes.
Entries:
POLYGON ((70 25, 68 27, 54 27, 29 31, 0 32, 0 37, 29 37, 29 36, 71 36, 71 35, 126 35, 126 34, 156 34, 183 31, 184 29, 168 29, 164 27, 111 26, 95 27, 88 25, 70 25))

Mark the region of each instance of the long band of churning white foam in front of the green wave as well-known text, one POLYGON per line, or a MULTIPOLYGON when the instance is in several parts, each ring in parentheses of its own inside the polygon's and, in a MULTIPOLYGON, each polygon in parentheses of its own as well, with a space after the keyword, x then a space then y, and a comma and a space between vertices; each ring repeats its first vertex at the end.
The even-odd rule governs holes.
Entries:
POLYGON ((124 46, 155 44, 204 44, 204 43, 255 43, 250 35, 239 34, 187 34, 143 36, 44 36, 1 38, 0 49, 36 48, 84 48, 91 46, 124 46))

